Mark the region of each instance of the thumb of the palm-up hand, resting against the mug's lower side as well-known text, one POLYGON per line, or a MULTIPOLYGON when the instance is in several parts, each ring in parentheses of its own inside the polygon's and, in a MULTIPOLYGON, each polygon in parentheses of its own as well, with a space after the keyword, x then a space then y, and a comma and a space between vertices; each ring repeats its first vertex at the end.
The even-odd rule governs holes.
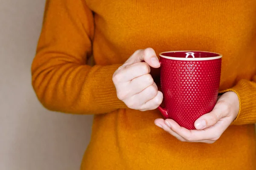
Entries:
POLYGON ((214 108, 210 113, 204 114, 195 121, 195 128, 201 130, 215 125, 222 117, 222 111, 214 108))

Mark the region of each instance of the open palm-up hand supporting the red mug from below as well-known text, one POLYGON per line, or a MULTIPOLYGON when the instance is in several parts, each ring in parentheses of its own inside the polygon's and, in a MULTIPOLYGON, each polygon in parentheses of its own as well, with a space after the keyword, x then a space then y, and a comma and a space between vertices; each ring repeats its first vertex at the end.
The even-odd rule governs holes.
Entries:
POLYGON ((214 143, 239 113, 239 98, 233 91, 222 94, 210 113, 195 121, 196 130, 180 127, 172 119, 156 119, 155 124, 183 142, 214 143))

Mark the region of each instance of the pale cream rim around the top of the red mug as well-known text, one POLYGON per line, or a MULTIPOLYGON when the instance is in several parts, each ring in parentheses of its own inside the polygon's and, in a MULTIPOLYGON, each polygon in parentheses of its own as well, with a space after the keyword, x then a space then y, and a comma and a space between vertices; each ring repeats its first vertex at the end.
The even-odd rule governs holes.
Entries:
POLYGON ((160 57, 166 58, 166 59, 173 59, 173 60, 181 60, 181 61, 205 61, 205 60, 213 60, 213 59, 220 59, 222 58, 222 54, 215 53, 215 52, 210 52, 210 51, 198 51, 198 50, 185 50, 185 51, 165 51, 159 53, 160 57), (163 55, 163 53, 175 53, 175 52, 206 52, 206 53, 213 53, 213 54, 218 54, 216 57, 203 57, 203 58, 183 58, 183 57, 169 57, 163 55))

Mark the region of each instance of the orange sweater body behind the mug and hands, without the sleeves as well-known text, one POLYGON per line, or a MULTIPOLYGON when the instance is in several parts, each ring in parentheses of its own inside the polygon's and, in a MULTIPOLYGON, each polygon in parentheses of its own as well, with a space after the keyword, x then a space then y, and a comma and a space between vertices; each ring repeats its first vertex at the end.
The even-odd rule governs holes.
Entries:
MULTIPOLYGON (((220 90, 256 74, 255 0, 87 0, 87 5, 95 13, 96 64, 123 63, 147 47, 157 54, 202 50, 223 54, 220 90)), ((82 168, 256 168, 254 125, 230 126, 215 144, 183 143, 155 127, 159 117, 158 111, 134 110, 95 116, 82 168)))

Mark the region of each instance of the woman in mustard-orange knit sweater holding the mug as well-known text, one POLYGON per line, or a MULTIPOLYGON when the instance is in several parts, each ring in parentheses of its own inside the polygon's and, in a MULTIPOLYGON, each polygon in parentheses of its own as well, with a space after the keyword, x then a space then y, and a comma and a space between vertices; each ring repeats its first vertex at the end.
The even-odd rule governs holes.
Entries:
POLYGON ((32 85, 49 110, 95 114, 81 170, 253 170, 255 16, 254 0, 47 0, 32 85), (177 50, 223 54, 197 130, 156 109, 157 54, 177 50))

